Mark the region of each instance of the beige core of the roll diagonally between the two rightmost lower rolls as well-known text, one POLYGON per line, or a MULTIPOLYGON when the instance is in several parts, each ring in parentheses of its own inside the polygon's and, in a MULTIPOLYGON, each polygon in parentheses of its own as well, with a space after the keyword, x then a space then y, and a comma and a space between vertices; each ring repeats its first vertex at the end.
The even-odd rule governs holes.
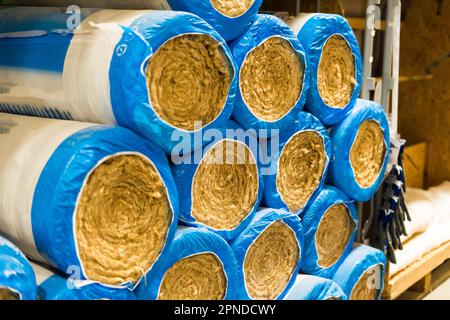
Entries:
POLYGON ((354 229, 355 221, 344 204, 328 208, 317 227, 315 239, 318 264, 322 268, 329 268, 338 262, 354 229))

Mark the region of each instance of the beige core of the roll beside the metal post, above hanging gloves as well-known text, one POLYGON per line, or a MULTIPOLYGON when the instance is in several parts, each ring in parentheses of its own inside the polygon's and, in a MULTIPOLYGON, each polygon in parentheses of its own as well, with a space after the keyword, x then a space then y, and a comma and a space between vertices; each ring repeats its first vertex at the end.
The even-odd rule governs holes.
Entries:
POLYGON ((350 164, 356 181, 362 188, 370 188, 376 182, 385 156, 383 130, 376 121, 364 121, 350 150, 350 164))

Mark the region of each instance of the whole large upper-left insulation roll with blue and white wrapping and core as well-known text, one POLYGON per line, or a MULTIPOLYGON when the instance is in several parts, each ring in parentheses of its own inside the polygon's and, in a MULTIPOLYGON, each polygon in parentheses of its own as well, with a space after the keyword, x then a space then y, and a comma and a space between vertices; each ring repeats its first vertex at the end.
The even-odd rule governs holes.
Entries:
POLYGON ((12 8, 0 87, 0 111, 119 124, 170 153, 231 116, 236 77, 226 42, 190 13, 12 8))

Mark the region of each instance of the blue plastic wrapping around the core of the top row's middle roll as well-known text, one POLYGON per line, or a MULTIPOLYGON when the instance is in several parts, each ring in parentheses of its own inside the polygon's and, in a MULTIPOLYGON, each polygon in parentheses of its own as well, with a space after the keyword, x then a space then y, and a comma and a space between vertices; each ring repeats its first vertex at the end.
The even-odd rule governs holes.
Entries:
POLYGON ((237 90, 233 119, 246 129, 283 130, 288 127, 290 123, 295 121, 297 114, 303 109, 306 102, 306 97, 309 92, 309 62, 307 55, 289 26, 275 16, 264 14, 258 15, 251 27, 239 38, 230 43, 230 48, 236 61, 239 75, 248 55, 265 41, 274 37, 287 40, 300 59, 303 67, 301 93, 290 111, 282 118, 275 121, 266 121, 257 117, 247 106, 238 80, 237 86, 239 89, 237 90))

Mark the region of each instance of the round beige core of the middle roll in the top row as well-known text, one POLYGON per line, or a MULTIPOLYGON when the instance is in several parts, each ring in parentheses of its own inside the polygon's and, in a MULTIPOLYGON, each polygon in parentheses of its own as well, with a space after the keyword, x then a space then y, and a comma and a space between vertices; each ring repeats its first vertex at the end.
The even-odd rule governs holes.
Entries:
POLYGON ((247 55, 239 86, 250 111, 264 121, 283 118, 297 103, 303 65, 289 41, 271 37, 247 55))

